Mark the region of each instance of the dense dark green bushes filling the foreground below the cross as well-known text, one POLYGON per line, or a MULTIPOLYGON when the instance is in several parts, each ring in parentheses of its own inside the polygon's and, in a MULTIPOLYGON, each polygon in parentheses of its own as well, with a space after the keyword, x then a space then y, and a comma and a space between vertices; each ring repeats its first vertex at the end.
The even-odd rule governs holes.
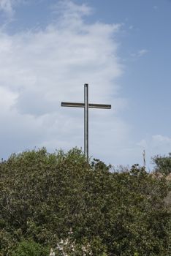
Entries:
POLYGON ((168 256, 168 187, 138 165, 112 172, 77 148, 42 148, 1 162, 0 190, 1 256, 16 255, 25 241, 38 252, 56 248, 71 229, 77 248, 88 244, 94 256, 168 256))

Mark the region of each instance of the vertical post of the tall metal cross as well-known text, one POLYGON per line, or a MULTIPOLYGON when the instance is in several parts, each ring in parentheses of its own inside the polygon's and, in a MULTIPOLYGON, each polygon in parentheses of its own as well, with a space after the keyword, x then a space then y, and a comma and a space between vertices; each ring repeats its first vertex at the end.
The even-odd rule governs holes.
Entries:
POLYGON ((84 154, 88 159, 88 83, 84 85, 84 154))

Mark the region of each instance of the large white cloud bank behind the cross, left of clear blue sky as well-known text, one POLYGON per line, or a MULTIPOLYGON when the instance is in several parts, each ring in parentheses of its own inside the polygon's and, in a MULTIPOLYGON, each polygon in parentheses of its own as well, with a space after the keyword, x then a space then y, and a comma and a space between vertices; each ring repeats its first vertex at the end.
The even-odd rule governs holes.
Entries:
POLYGON ((115 41, 120 24, 87 23, 91 12, 85 4, 61 1, 45 29, 12 35, 0 30, 2 157, 34 146, 83 147, 83 109, 60 103, 83 102, 84 83, 90 84, 90 102, 113 105, 90 110, 91 154, 102 151, 105 158, 126 138, 128 127, 116 116, 126 105, 115 82, 123 69, 115 41))

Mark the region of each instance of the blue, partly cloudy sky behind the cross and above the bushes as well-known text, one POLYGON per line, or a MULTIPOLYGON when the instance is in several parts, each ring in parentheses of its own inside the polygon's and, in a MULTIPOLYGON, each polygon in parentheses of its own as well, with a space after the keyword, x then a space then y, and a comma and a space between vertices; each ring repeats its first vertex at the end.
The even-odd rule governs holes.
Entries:
POLYGON ((83 148, 106 164, 143 165, 171 151, 170 0, 0 0, 0 158, 45 146, 83 148))

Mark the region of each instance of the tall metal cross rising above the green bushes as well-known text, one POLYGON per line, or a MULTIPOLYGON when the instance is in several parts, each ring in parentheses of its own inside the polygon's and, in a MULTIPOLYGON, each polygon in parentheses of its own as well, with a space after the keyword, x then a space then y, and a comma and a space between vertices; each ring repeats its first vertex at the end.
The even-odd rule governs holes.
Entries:
POLYGON ((84 108, 84 154, 88 159, 88 108, 110 109, 111 105, 88 103, 88 83, 84 85, 84 103, 61 102, 61 107, 84 108))

